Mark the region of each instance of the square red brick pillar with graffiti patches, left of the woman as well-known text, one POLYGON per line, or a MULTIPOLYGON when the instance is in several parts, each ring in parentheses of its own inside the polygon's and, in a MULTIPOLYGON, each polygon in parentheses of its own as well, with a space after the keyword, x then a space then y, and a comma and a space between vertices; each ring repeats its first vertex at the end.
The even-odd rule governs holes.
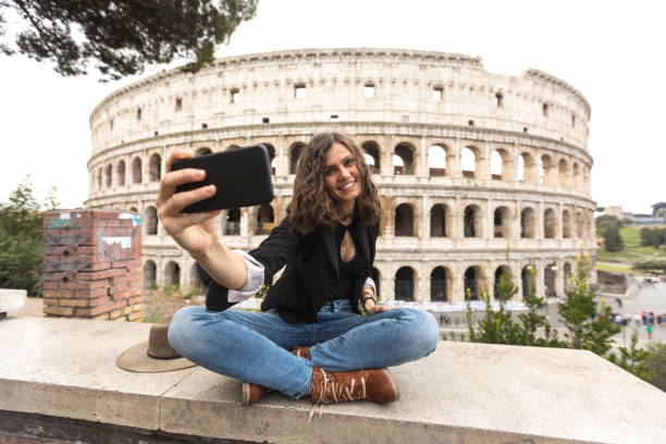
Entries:
POLYGON ((44 312, 49 317, 141 318, 137 214, 55 210, 44 215, 44 312))

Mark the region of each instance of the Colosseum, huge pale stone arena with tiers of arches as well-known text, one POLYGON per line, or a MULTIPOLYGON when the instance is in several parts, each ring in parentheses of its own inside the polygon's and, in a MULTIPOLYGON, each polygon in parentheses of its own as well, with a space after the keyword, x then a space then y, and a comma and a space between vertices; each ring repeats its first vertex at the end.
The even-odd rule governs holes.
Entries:
POLYGON ((382 196, 374 263, 385 300, 472 299, 505 274, 562 295, 575 255, 594 262, 590 104, 536 70, 492 74, 480 58, 397 49, 301 49, 218 59, 116 90, 90 115, 86 207, 144 219, 145 285, 196 284, 155 198, 164 160, 263 144, 276 197, 220 218, 227 246, 257 246, 285 215, 299 152, 340 131, 365 150, 382 196))

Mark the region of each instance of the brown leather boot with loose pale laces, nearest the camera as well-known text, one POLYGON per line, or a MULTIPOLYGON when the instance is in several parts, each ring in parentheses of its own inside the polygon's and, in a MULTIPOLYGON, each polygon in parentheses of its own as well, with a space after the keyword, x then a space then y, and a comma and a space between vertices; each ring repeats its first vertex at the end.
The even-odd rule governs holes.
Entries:
POLYGON ((312 374, 312 403, 331 404, 367 399, 388 404, 400 396, 388 369, 325 371, 317 366, 312 374))

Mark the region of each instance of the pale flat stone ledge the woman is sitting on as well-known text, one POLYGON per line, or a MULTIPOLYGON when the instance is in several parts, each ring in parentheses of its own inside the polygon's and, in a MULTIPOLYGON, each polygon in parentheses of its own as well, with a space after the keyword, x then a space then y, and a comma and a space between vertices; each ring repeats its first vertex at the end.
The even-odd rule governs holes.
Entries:
POLYGON ((588 351, 441 342, 431 356, 392 369, 398 402, 325 406, 308 423, 309 402, 269 394, 246 408, 238 381, 202 368, 116 368, 115 357, 148 330, 0 321, 0 410, 226 442, 666 442, 666 394, 588 351))

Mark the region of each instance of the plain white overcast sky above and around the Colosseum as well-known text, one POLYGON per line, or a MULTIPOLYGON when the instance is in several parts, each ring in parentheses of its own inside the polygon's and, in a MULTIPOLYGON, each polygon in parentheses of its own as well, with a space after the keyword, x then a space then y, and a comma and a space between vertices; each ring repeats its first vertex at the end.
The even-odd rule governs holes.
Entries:
MULTIPOLYGON (((592 106, 592 197, 650 212, 666 201, 666 26, 661 1, 260 0, 218 57, 297 48, 404 48, 479 55, 489 72, 534 67, 592 106)), ((62 208, 88 193, 88 118, 121 86, 63 78, 48 64, 0 57, 0 201, 32 175, 62 208)))

